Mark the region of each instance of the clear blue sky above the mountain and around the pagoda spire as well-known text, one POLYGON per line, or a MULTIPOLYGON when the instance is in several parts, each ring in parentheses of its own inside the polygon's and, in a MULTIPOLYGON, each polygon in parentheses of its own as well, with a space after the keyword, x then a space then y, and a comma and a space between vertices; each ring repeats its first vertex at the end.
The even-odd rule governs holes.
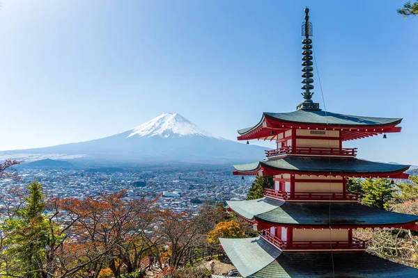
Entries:
POLYGON ((1 0, 0 149, 109 136, 164 112, 235 140, 302 100, 308 5, 327 110, 404 118, 387 140, 346 146, 418 165, 418 18, 396 14, 405 1, 1 0))

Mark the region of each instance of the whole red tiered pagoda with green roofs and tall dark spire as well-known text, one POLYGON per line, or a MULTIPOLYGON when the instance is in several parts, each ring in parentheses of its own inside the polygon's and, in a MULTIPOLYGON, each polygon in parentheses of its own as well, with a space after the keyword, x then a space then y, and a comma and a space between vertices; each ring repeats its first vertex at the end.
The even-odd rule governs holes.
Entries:
POLYGON ((234 165, 235 175, 272 176, 274 188, 261 199, 227 202, 258 231, 256 238, 220 238, 243 277, 418 277, 418 269, 366 253, 356 228, 418 230, 417 215, 359 204, 347 178, 407 179, 410 165, 357 159, 343 142, 400 132, 400 118, 331 113, 312 100, 312 24, 302 23, 303 101, 290 113, 263 113, 238 140, 270 140, 266 159, 234 165))

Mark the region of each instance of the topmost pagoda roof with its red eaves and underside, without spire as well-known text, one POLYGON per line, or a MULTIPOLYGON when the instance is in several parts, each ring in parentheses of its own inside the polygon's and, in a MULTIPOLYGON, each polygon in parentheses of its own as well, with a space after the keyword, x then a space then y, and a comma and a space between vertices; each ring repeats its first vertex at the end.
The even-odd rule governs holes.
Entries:
POLYGON ((284 138, 309 139, 321 135, 346 141, 382 133, 400 132, 396 126, 401 118, 362 117, 318 110, 300 109, 290 113, 263 113, 260 122, 240 129, 238 140, 282 140, 284 138))

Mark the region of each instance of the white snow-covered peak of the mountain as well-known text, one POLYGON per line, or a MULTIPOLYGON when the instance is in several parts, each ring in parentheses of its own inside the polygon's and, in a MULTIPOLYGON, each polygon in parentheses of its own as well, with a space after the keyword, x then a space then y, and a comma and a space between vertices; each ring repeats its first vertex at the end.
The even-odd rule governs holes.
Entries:
POLYGON ((217 138, 217 136, 204 131, 178 113, 163 113, 149 122, 134 127, 130 131, 131 133, 127 138, 132 136, 160 136, 164 138, 169 138, 170 136, 204 136, 217 138))

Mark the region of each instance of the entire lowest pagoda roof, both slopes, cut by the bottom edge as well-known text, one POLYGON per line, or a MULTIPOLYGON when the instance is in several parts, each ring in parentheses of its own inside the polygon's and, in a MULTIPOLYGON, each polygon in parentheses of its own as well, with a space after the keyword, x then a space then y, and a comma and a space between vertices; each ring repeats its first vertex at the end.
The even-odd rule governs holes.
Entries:
POLYGON ((243 277, 418 277, 418 269, 366 252, 280 253, 263 238, 219 238, 243 277))

